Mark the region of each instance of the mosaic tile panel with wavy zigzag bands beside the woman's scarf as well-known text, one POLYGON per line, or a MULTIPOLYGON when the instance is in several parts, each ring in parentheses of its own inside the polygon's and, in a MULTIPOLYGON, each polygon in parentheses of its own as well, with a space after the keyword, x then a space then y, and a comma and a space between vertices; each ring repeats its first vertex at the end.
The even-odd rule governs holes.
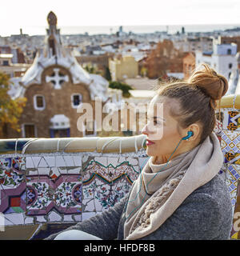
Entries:
MULTIPOLYGON (((116 160, 116 159, 115 159, 116 160)), ((102 211, 114 206, 130 190, 138 178, 139 166, 136 158, 122 158, 123 162, 104 166, 104 158, 92 158, 82 163, 82 211, 102 211), (98 161, 96 161, 96 159, 98 161), (136 164, 136 166, 131 165, 136 164)))

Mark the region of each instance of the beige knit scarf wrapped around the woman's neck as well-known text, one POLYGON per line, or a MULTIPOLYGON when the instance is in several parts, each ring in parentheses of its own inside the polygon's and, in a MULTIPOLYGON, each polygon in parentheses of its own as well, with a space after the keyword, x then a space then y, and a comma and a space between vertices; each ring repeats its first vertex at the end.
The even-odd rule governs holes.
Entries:
POLYGON ((125 213, 126 240, 143 238, 158 230, 194 190, 218 174, 223 155, 212 132, 204 142, 168 163, 153 162, 151 157, 133 183, 125 213))

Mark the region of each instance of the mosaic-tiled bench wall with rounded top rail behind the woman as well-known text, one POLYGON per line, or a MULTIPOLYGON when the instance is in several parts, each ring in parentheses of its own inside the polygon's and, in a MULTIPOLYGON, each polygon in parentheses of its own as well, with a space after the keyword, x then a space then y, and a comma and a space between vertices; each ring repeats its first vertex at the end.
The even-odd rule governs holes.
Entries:
MULTIPOLYGON (((233 212, 240 210, 239 114, 239 94, 222 98, 214 130, 233 212)), ((46 238, 114 206, 146 163, 144 142, 144 135, 0 140, 0 239, 46 238)), ((231 238, 240 238, 234 225, 231 238)))

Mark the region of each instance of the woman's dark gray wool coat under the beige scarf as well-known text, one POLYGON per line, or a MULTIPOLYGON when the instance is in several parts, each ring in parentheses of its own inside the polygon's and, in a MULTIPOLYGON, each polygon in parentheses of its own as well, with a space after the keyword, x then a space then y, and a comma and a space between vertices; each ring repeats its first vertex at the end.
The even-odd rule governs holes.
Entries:
MULTIPOLYGON (((66 230, 82 230, 104 240, 123 240, 126 200, 66 230)), ((190 194, 170 218, 139 240, 226 240, 230 238, 233 213, 230 194, 221 174, 190 194)), ((64 231, 66 231, 64 230, 64 231)), ((54 239, 52 234, 46 240, 54 239)))

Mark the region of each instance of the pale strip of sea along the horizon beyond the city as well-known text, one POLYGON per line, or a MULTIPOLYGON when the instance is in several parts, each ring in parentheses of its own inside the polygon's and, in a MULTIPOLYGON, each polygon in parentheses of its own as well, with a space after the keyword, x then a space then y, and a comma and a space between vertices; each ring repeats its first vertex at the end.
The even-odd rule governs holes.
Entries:
MULTIPOLYGON (((119 26, 58 26, 61 34, 115 34, 119 30, 119 26)), ((182 32, 182 27, 184 27, 185 33, 188 32, 213 32, 220 30, 228 30, 240 27, 239 24, 205 24, 205 25, 138 25, 138 26, 122 26, 122 31, 134 34, 146 34, 154 32, 167 31, 168 34, 175 34, 177 32, 182 32)), ((46 26, 26 26, 22 27, 23 34, 29 35, 45 35, 46 26)), ((18 33, 16 33, 18 34, 18 33)), ((20 34, 20 29, 19 29, 20 34)))

